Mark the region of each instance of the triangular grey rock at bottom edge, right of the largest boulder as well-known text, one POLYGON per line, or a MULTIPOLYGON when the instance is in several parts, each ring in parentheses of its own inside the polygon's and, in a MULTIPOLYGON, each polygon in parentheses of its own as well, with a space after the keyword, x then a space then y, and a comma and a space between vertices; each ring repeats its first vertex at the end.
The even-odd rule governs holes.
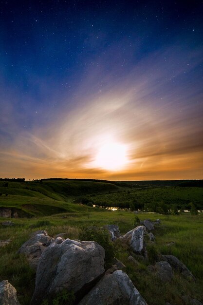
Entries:
POLYGON ((117 270, 105 275, 80 301, 79 305, 147 305, 129 276, 117 270))

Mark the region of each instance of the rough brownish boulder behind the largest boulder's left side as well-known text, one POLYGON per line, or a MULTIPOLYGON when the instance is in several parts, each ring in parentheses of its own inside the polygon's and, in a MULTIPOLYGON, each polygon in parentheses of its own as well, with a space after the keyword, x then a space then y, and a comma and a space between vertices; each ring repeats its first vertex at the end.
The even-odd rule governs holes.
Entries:
POLYGON ((42 252, 53 242, 59 244, 63 242, 63 238, 57 237, 53 239, 46 231, 38 230, 32 234, 32 237, 26 241, 18 250, 27 257, 31 267, 37 270, 38 261, 42 252))

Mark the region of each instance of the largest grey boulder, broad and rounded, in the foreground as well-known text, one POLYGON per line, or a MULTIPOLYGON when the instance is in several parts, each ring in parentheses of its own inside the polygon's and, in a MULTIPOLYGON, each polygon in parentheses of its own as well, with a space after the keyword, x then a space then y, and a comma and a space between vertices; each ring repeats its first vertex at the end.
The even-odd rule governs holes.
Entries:
POLYGON ((93 241, 67 238, 59 245, 51 244, 39 259, 31 305, 41 304, 44 297, 63 288, 76 293, 84 286, 91 286, 105 271, 104 257, 104 248, 93 241))

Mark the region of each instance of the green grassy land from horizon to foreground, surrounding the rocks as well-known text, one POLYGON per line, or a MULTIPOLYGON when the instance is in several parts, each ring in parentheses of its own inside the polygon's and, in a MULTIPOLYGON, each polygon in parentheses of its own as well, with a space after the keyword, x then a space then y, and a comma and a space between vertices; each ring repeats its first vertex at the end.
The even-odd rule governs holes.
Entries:
MULTIPOLYGON (((122 234, 134 228, 136 216, 130 210, 110 211, 78 204, 84 198, 100 206, 127 208, 133 203, 150 209, 164 202, 168 208, 167 215, 147 211, 136 214, 140 220, 159 218, 162 221, 153 232, 156 244, 147 245, 149 261, 140 261, 139 266, 132 265, 128 256, 133 253, 119 243, 113 246, 115 257, 126 265, 126 272, 148 305, 163 305, 166 302, 189 305, 189 301, 183 301, 183 296, 203 302, 203 213, 193 216, 191 213, 173 215, 169 212, 171 207, 186 208, 190 202, 203 209, 203 188, 133 188, 119 186, 118 183, 75 180, 9 181, 7 185, 0 181, 0 193, 0 209, 11 208, 18 212, 19 217, 12 219, 15 223, 13 227, 0 225, 0 240, 12 240, 11 244, 0 248, 0 281, 7 279, 16 287, 21 305, 29 305, 35 286, 35 272, 26 258, 17 254, 17 250, 33 231, 45 229, 50 236, 65 232, 65 237, 78 239, 84 226, 116 224, 122 234), (175 244, 166 246, 170 242, 175 244), (148 272, 147 266, 155 264, 158 253, 175 255, 189 268, 196 281, 189 282, 177 271, 174 271, 170 283, 155 278, 148 272)), ((5 220, 8 219, 0 218, 0 222, 5 220)))

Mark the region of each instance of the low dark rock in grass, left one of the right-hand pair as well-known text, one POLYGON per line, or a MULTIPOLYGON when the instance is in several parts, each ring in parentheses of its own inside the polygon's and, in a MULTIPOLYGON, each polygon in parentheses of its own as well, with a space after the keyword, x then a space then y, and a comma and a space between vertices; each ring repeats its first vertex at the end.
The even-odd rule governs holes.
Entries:
POLYGON ((171 281, 173 271, 167 262, 158 262, 155 266, 148 266, 148 271, 155 273, 163 282, 171 281))

